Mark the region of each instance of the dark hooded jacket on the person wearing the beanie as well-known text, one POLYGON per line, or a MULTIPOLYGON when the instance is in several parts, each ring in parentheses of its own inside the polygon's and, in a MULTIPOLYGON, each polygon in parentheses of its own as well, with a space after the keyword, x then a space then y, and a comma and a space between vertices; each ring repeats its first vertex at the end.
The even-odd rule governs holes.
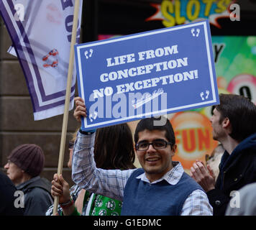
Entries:
POLYGON ((45 216, 53 203, 50 181, 37 176, 17 185, 17 189, 24 193, 24 216, 45 216))

